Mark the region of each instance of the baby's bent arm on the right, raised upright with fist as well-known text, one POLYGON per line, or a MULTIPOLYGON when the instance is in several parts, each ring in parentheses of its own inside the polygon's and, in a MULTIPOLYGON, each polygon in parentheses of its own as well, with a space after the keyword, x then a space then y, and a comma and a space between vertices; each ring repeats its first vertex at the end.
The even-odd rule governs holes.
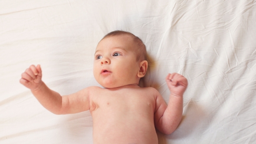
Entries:
POLYGON ((168 74, 166 77, 170 89, 168 106, 163 97, 158 94, 154 122, 156 128, 164 134, 171 134, 178 126, 183 112, 183 93, 187 88, 187 79, 177 73, 168 74))

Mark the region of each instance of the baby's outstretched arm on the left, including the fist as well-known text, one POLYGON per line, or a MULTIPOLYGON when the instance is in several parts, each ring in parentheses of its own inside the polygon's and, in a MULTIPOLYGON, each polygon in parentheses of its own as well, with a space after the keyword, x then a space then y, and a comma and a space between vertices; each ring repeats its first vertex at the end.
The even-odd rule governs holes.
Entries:
POLYGON ((90 108, 89 88, 71 95, 61 96, 49 89, 42 81, 40 65, 31 65, 22 73, 20 83, 30 88, 33 95, 47 110, 54 114, 70 114, 87 111, 90 108))

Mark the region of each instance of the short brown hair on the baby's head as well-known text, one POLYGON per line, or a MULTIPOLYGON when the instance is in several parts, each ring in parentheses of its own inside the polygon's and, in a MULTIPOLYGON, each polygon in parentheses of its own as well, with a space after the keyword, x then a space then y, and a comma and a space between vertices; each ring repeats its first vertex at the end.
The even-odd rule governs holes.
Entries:
POLYGON ((133 38, 134 43, 137 44, 137 56, 136 56, 136 61, 138 62, 139 60, 143 61, 143 60, 147 60, 147 50, 146 50, 146 46, 144 45, 144 43, 142 42, 142 40, 138 37, 135 36, 134 34, 130 33, 130 32, 125 32, 122 30, 115 30, 113 32, 110 32, 108 34, 106 34, 102 39, 107 38, 107 37, 111 37, 111 36, 120 36, 120 35, 128 35, 131 36, 133 38))

